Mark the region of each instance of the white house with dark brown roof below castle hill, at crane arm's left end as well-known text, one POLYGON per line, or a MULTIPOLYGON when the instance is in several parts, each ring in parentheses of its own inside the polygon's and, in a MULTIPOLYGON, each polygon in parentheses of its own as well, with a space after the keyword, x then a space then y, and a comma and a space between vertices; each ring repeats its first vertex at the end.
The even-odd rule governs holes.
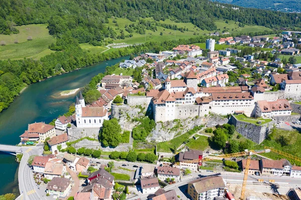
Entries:
POLYGON ((178 153, 176 155, 176 159, 180 162, 181 169, 188 168, 191 171, 197 171, 198 166, 203 159, 203 151, 190 149, 188 151, 184 151, 184 153, 178 153))

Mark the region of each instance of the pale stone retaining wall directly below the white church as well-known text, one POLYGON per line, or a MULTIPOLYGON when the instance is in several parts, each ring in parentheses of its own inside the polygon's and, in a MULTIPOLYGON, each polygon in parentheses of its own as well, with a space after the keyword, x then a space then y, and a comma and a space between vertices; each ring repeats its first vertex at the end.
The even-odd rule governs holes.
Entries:
POLYGON ((82 137, 98 139, 100 128, 67 128, 69 140, 74 141, 82 137))

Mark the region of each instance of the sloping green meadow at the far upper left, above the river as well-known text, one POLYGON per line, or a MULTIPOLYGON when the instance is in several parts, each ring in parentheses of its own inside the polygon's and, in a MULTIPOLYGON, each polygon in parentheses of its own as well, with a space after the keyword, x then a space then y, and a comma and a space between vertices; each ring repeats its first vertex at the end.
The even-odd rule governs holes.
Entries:
POLYGON ((46 24, 24 25, 16 27, 20 33, 11 35, 0 35, 0 41, 6 46, 0 46, 0 59, 23 59, 33 58, 35 60, 51 54, 54 51, 48 49, 55 38, 48 33, 46 24), (32 41, 27 38, 32 37, 32 41), (18 41, 18 44, 14 42, 18 41))

